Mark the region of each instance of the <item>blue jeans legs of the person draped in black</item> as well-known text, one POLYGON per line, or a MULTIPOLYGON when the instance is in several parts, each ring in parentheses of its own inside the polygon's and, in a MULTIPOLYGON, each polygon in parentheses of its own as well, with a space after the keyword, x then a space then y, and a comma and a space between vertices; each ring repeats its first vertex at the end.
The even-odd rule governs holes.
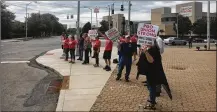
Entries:
MULTIPOLYGON (((147 83, 148 83, 148 81, 147 81, 147 83)), ((149 97, 150 97, 149 100, 151 101, 151 104, 155 104, 156 103, 156 86, 150 85, 148 83, 147 87, 149 90, 149 97)))

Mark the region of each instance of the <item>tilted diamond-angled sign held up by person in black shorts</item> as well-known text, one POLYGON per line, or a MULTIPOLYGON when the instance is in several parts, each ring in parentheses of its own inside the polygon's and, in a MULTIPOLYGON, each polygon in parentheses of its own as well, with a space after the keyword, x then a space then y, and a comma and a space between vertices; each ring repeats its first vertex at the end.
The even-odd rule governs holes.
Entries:
POLYGON ((105 32, 105 34, 113 42, 115 42, 120 37, 120 33, 117 30, 117 28, 112 28, 108 30, 107 32, 105 32))

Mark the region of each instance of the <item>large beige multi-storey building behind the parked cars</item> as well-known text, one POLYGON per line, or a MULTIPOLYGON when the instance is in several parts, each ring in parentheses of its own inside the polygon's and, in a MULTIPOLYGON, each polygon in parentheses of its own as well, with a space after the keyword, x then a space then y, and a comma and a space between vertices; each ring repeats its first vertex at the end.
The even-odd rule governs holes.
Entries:
MULTIPOLYGON (((193 24, 198 19, 206 19, 207 13, 202 11, 202 2, 190 2, 176 5, 176 13, 171 13, 170 7, 162 7, 151 10, 151 24, 158 25, 164 30, 163 35, 176 35, 173 24, 178 15, 189 17, 193 24)), ((210 13, 210 18, 214 19, 216 13, 210 13)))

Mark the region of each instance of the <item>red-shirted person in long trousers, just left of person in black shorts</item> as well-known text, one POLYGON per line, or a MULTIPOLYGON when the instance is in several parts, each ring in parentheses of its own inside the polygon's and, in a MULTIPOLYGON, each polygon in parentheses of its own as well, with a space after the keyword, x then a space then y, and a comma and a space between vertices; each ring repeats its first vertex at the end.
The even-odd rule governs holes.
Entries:
POLYGON ((101 47, 101 41, 99 40, 99 36, 96 37, 95 40, 92 40, 93 50, 94 50, 94 58, 96 59, 96 64, 93 65, 94 67, 99 67, 99 52, 101 47))

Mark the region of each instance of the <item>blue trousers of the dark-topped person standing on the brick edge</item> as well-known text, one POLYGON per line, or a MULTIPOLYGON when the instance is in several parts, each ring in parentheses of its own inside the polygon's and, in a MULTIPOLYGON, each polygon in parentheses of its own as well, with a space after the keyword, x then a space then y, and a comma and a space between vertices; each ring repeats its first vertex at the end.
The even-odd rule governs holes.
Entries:
POLYGON ((125 79, 129 79, 131 65, 132 65, 132 57, 121 56, 119 67, 118 67, 118 77, 121 77, 124 66, 126 66, 125 79))

